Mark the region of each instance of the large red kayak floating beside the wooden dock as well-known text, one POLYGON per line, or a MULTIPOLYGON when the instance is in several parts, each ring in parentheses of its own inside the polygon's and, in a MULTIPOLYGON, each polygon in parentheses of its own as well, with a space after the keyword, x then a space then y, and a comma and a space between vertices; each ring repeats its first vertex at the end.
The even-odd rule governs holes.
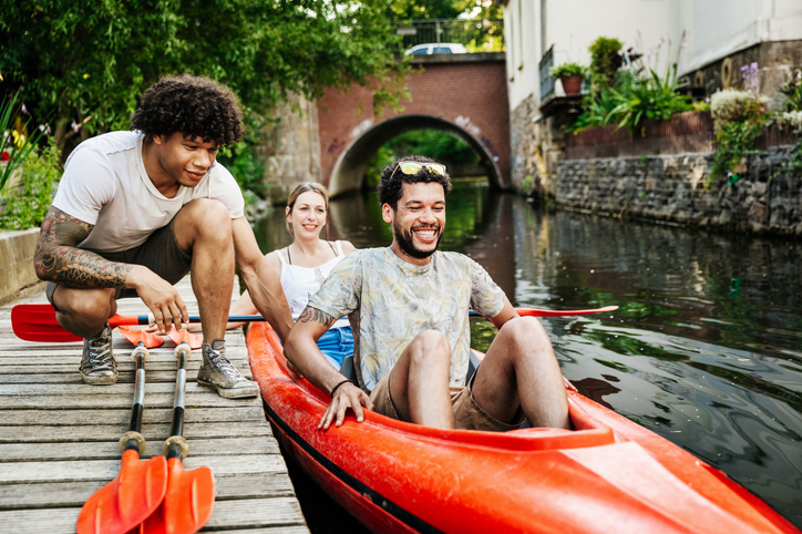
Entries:
POLYGON ((319 431, 330 398, 287 369, 269 325, 251 325, 247 345, 285 450, 373 532, 800 532, 721 471, 574 391, 574 431, 439 430, 370 411, 319 431))

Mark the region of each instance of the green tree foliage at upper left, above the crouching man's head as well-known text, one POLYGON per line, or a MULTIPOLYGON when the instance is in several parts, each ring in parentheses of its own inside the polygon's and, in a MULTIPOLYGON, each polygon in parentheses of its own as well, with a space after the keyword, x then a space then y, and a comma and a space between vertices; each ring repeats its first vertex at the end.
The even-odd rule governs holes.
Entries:
POLYGON ((288 92, 313 99, 371 80, 377 102, 393 104, 403 74, 378 0, 0 2, 0 91, 22 88, 32 114, 55 123, 59 146, 127 129, 163 75, 207 75, 266 111, 288 92))

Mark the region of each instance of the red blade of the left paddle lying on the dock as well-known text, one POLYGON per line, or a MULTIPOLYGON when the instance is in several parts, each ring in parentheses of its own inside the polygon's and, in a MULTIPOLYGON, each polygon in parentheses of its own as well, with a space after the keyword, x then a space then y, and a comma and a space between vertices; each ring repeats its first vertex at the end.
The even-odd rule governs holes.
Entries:
POLYGON ((97 490, 81 509, 78 534, 126 532, 153 514, 166 490, 164 456, 143 461, 136 450, 127 450, 116 479, 97 490))

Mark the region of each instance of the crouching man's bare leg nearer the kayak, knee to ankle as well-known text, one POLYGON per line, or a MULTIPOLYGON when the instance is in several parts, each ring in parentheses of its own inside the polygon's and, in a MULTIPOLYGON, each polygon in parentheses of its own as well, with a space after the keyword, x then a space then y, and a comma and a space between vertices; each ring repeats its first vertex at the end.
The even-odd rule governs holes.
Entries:
POLYGON ((223 203, 198 198, 178 212, 173 229, 178 246, 192 254, 192 288, 204 339, 225 339, 234 290, 232 216, 223 203))

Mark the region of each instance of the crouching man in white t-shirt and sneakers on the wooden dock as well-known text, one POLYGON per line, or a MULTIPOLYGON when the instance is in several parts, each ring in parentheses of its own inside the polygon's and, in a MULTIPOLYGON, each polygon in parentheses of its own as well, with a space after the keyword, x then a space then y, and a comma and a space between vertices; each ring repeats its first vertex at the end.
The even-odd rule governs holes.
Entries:
POLYGON ((181 329, 189 315, 173 284, 192 269, 207 340, 197 381, 222 397, 255 397, 256 383, 225 356, 235 264, 279 336, 292 321, 239 186, 215 162, 218 147, 243 135, 237 99, 209 79, 165 78, 145 92, 132 123, 70 154, 37 244, 37 274, 59 324, 84 338, 81 378, 117 380, 107 319, 119 298, 142 298, 161 332, 181 329))

